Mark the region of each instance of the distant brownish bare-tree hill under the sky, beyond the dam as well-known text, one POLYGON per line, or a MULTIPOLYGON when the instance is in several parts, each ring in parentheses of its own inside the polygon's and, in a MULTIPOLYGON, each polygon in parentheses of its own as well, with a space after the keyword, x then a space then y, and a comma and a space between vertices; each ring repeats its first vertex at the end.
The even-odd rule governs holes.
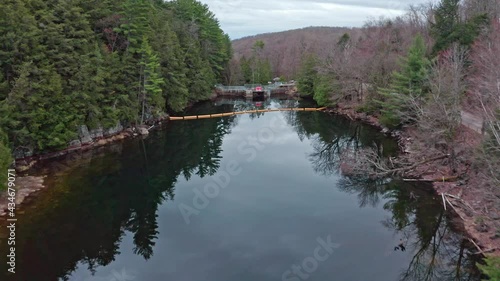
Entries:
POLYGON ((283 32, 265 33, 244 37, 232 41, 234 59, 239 61, 242 56, 249 58, 252 55, 252 46, 257 40, 265 43, 263 56, 271 62, 273 72, 277 75, 293 77, 300 60, 305 53, 316 53, 326 57, 346 32, 356 28, 346 27, 307 27, 283 32))

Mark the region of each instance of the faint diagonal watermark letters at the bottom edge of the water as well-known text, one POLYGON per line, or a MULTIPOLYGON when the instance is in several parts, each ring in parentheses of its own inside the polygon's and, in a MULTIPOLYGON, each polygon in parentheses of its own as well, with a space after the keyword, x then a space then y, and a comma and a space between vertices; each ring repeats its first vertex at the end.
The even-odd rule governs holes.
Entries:
POLYGON ((318 246, 312 252, 312 255, 302 260, 299 265, 292 265, 290 269, 283 272, 281 275, 282 281, 301 281, 307 280, 311 275, 318 270, 322 262, 325 262, 332 254, 333 251, 340 247, 340 244, 333 243, 331 235, 326 239, 321 237, 316 238, 318 246))

